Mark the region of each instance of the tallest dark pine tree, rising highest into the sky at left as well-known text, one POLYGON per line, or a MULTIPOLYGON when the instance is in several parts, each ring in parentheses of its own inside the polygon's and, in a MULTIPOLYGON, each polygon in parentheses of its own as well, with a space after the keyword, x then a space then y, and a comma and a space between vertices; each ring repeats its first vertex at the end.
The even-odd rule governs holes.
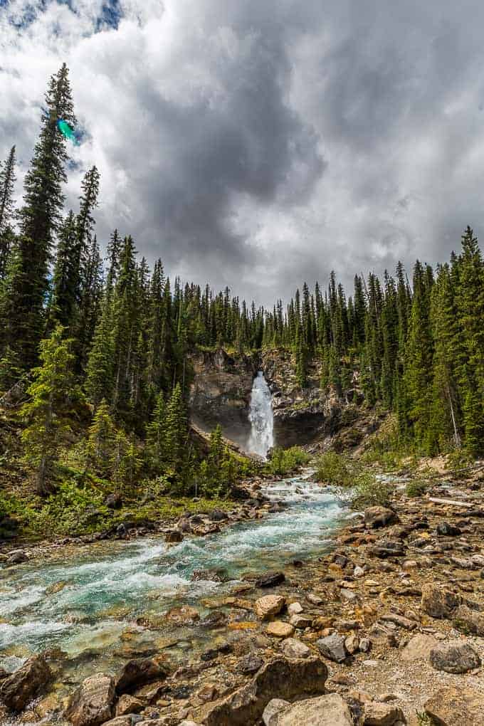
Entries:
POLYGON ((76 123, 66 65, 52 76, 45 102, 41 134, 25 176, 15 257, 0 304, 4 346, 17 351, 25 368, 36 361, 38 341, 45 329, 49 264, 64 203, 67 142, 57 128, 57 119, 63 118, 71 126, 76 123))

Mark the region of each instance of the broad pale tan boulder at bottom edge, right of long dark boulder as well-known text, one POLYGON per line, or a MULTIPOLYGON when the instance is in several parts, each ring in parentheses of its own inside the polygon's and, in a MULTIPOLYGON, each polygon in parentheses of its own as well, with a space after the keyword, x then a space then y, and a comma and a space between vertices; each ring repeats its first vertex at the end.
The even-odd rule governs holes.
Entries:
POLYGON ((265 723, 266 726, 353 726, 353 718, 339 693, 328 693, 279 708, 265 723))

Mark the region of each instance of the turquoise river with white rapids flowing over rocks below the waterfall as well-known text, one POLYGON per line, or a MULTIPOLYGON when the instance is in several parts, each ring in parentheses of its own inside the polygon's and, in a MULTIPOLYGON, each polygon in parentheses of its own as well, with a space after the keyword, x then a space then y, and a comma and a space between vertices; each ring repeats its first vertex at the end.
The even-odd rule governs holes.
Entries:
POLYGON ((247 587, 245 576, 274 569, 290 576, 293 560, 316 563, 344 517, 334 492, 304 478, 268 485, 263 493, 284 502, 284 510, 179 544, 155 537, 99 542, 65 559, 4 569, 0 666, 12 670, 31 653, 48 650, 72 690, 94 670, 115 672, 129 657, 163 651, 181 664, 221 638, 241 635, 253 613, 234 614, 223 599, 247 587), (214 568, 225 582, 192 581, 194 570, 214 568), (197 608, 200 621, 173 625, 166 613, 181 605, 197 608), (226 613, 225 622, 206 627, 204 617, 214 607, 226 613))

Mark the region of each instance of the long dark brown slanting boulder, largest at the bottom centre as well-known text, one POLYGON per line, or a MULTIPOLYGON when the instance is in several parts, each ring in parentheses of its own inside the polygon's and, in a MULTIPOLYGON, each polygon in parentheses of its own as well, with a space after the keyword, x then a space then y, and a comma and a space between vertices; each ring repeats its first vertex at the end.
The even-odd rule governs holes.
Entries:
POLYGON ((316 656, 297 660, 272 658, 247 685, 202 706, 194 718, 203 726, 247 726, 261 719, 273 698, 292 701, 324 693, 327 675, 327 666, 316 656))

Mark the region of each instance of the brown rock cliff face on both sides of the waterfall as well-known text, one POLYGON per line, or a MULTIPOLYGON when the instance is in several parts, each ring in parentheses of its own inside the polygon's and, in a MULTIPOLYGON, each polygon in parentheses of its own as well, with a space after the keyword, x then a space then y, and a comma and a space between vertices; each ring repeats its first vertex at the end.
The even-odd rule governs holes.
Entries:
POLYGON ((323 391, 316 363, 308 371, 308 385, 301 390, 292 354, 287 350, 277 348, 253 355, 200 352, 192 364, 193 422, 205 431, 220 423, 224 436, 242 448, 249 438, 250 393, 258 370, 263 371, 273 393, 276 446, 321 449, 332 444, 336 449, 351 448, 379 423, 372 412, 361 407, 363 396, 356 383, 341 395, 323 391))

